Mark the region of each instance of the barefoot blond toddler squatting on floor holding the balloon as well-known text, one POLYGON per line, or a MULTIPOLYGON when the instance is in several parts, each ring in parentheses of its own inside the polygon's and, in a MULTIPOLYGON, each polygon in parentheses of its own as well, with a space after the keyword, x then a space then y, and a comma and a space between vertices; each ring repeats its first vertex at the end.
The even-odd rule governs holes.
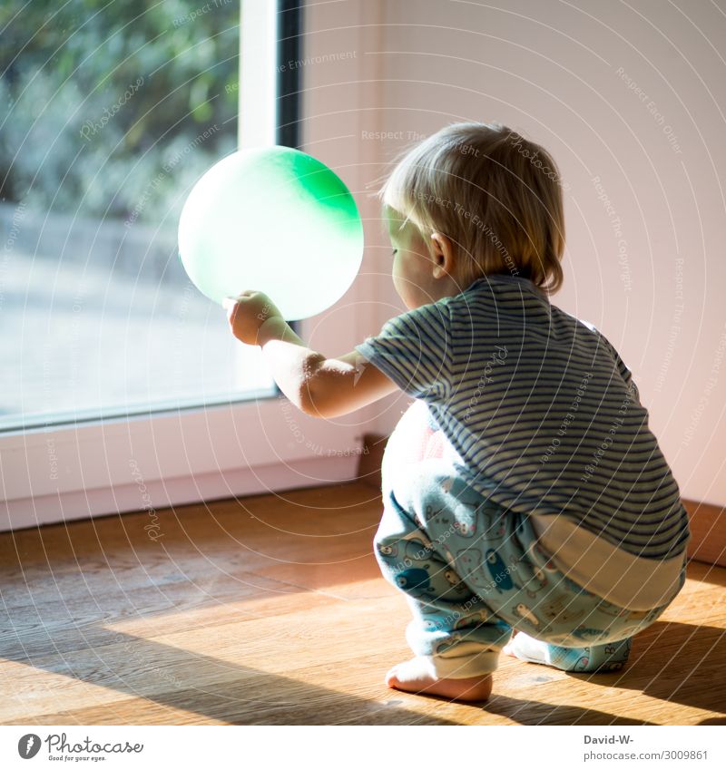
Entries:
POLYGON ((260 292, 226 307, 307 414, 415 399, 388 440, 374 541, 413 615, 415 657, 388 686, 484 700, 503 650, 622 668, 682 589, 690 532, 630 371, 549 301, 554 161, 505 126, 456 123, 407 151, 380 196, 408 310, 378 336, 327 358, 260 292))

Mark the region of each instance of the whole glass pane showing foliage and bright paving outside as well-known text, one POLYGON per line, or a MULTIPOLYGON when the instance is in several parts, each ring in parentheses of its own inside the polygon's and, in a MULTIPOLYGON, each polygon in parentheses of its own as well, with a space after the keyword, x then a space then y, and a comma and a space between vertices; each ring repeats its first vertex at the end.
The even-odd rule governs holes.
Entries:
POLYGON ((236 0, 0 5, 0 428, 272 395, 176 228, 237 145, 236 0))

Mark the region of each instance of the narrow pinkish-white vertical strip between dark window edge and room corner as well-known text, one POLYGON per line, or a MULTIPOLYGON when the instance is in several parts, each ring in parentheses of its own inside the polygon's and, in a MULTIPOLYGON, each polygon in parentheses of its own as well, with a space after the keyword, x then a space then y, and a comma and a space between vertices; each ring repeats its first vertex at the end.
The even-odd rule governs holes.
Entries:
MULTIPOLYGON (((346 182, 358 203, 366 239, 353 286, 329 311, 302 325, 309 345, 328 355, 348 353, 405 309, 389 290, 390 245, 383 239, 375 198, 382 148, 366 138, 388 120, 379 109, 382 60, 373 53, 384 29, 383 7, 383 0, 343 0, 308 3, 305 8, 301 149, 346 182)), ((409 401, 399 395, 333 422, 354 425, 360 434, 388 433, 409 401)))

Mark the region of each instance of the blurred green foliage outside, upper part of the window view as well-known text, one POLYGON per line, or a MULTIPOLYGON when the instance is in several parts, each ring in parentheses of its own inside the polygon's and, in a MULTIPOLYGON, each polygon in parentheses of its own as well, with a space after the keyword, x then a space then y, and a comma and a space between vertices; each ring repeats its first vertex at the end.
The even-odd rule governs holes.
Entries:
POLYGON ((3 0, 0 200, 176 221, 237 139, 238 0, 3 0))

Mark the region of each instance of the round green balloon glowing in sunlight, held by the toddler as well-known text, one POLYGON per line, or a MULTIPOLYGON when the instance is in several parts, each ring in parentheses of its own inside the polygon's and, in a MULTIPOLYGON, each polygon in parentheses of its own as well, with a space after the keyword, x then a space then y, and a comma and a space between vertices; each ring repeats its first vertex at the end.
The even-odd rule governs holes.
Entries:
POLYGON ((346 293, 363 258, 363 225, 327 166, 290 147, 260 147, 232 153, 194 185, 179 221, 179 255, 215 302, 256 289, 292 321, 346 293))

